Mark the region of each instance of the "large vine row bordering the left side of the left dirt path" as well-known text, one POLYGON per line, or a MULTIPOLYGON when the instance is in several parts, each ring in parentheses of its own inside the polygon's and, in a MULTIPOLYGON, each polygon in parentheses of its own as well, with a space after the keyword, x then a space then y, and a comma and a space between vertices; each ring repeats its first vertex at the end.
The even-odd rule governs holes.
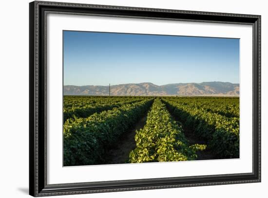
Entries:
POLYGON ((64 132, 64 166, 105 162, 105 152, 116 144, 151 106, 153 99, 94 113, 87 118, 68 119, 64 132))

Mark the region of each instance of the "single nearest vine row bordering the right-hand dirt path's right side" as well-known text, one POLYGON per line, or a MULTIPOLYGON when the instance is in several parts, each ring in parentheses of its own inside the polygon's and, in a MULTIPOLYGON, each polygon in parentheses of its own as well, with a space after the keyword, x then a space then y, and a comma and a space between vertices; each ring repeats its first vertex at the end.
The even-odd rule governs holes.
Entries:
POLYGON ((219 158, 239 158, 239 118, 208 112, 204 108, 185 105, 179 99, 163 99, 172 114, 186 127, 208 142, 219 158))

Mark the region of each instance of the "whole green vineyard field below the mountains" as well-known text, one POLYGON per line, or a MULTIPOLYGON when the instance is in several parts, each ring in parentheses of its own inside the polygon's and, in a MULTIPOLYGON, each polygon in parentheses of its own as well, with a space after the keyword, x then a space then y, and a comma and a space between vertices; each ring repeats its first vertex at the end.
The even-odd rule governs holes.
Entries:
POLYGON ((64 96, 63 116, 64 166, 239 158, 239 98, 64 96))

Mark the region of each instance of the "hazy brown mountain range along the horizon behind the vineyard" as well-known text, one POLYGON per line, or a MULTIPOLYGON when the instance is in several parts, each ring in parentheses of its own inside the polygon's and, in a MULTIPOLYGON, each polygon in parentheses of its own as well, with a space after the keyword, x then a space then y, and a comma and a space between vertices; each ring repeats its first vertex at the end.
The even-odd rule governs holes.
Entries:
MULTIPOLYGON (((108 86, 63 86, 64 95, 109 95, 108 86)), ((153 83, 130 83, 111 85, 114 96, 164 96, 164 95, 222 95, 239 96, 239 84, 229 82, 175 83, 154 85, 153 83)))

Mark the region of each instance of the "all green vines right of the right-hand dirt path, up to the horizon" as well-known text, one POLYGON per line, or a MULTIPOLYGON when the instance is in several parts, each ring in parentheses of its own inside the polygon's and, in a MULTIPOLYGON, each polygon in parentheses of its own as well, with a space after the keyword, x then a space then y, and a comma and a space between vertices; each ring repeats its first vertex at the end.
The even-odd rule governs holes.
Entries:
POLYGON ((185 126, 207 140, 216 156, 239 157, 238 98, 164 98, 163 101, 185 126))

